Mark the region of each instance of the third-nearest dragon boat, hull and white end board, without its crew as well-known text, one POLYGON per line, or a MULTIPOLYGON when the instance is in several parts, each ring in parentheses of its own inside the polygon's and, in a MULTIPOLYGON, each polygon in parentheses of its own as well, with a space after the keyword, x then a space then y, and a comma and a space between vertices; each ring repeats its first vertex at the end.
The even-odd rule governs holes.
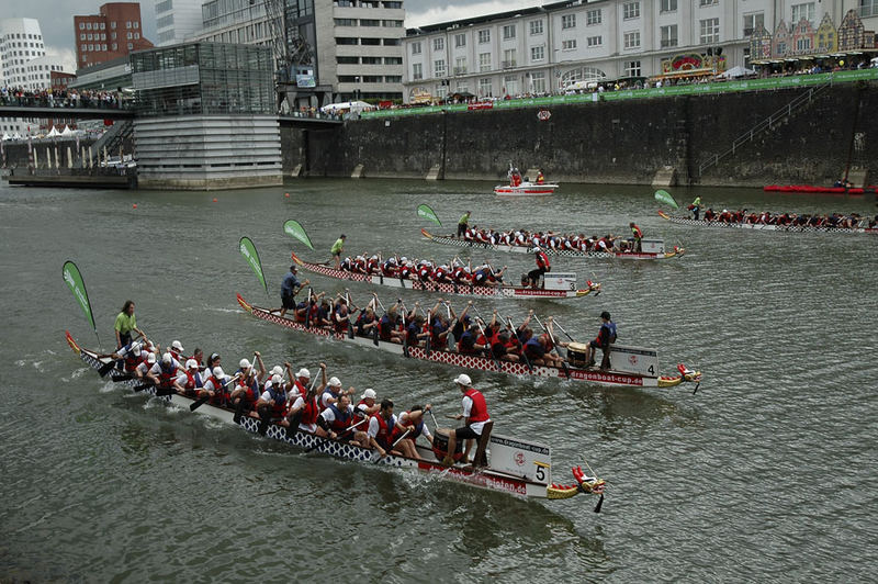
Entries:
POLYGON ((406 290, 420 290, 424 292, 440 292, 442 294, 458 294, 461 296, 496 296, 511 299, 579 299, 592 292, 600 293, 600 284, 588 280, 588 288, 576 288, 575 273, 547 273, 543 277, 543 288, 529 288, 516 285, 477 285, 472 283, 452 282, 424 282, 417 277, 403 278, 384 276, 382 273, 363 273, 348 270, 336 270, 328 263, 312 263, 304 261, 295 252, 293 261, 304 270, 352 282, 368 282, 375 285, 390 288, 404 288, 406 290))

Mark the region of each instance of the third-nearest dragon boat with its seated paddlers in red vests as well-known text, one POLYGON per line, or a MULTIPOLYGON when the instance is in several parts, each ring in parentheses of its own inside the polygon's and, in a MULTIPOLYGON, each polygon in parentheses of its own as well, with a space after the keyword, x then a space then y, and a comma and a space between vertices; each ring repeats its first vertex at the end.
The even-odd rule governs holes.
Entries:
POLYGON ((327 278, 442 294, 511 299, 578 299, 593 292, 600 294, 600 283, 592 280, 586 281, 588 288, 577 289, 575 273, 544 273, 541 285, 526 285, 527 277, 524 276, 521 285, 510 285, 503 281, 505 266, 502 269, 494 269, 489 263, 472 266, 458 258, 437 263, 405 256, 360 255, 345 258, 340 262, 341 269, 329 263, 304 261, 295 252, 292 252, 292 258, 302 269, 327 278))

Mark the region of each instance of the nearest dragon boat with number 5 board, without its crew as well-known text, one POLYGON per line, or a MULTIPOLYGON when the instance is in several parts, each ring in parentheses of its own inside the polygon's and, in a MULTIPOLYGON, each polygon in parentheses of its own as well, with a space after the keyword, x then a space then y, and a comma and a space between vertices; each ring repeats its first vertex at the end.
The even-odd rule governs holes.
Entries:
MULTIPOLYGON (((110 363, 109 357, 101 357, 99 353, 80 347, 77 341, 66 333, 67 344, 79 355, 82 361, 94 370, 100 370, 110 363)), ((150 395, 166 404, 173 404, 181 408, 191 409, 195 400, 171 393, 162 394, 155 385, 147 385, 140 380, 133 379, 131 375, 117 370, 110 370, 110 379, 119 385, 127 386, 133 391, 139 391, 150 395)), ((315 434, 299 430, 288 433, 284 426, 269 424, 260 433, 259 418, 240 416, 237 422, 235 412, 232 408, 221 407, 205 403, 198 408, 198 412, 205 414, 225 424, 239 426, 241 429, 251 434, 263 434, 266 438, 286 442, 291 446, 314 450, 337 459, 358 462, 360 464, 381 464, 402 471, 424 472, 439 479, 454 481, 476 487, 482 487, 502 493, 509 493, 526 498, 571 498, 579 493, 600 495, 595 510, 598 512, 603 503, 605 481, 596 476, 586 476, 582 468, 574 467, 574 484, 558 484, 552 482, 551 448, 547 445, 511 438, 496 434, 489 434, 487 443, 480 443, 480 448, 487 451, 486 467, 446 467, 437 460, 439 456, 436 451, 417 446, 420 460, 387 454, 379 458, 374 450, 350 445, 344 440, 333 438, 322 438, 315 434)), ((487 434, 483 433, 483 434, 487 434)), ((437 438, 441 435, 437 433, 437 438)))

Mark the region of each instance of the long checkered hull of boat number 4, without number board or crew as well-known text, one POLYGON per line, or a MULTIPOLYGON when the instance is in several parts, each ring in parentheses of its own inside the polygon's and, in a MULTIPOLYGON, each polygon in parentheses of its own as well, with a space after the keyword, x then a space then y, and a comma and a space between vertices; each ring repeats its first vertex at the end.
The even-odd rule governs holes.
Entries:
POLYGON ((240 294, 237 295, 237 300, 238 304, 240 304, 245 311, 262 321, 268 321, 269 323, 291 328, 293 330, 308 333, 341 342, 359 345, 361 347, 378 348, 393 355, 398 355, 401 357, 418 361, 444 363, 480 371, 494 371, 498 373, 506 373, 508 375, 548 379, 556 378, 561 380, 586 382, 609 388, 673 388, 684 382, 700 381, 700 373, 698 372, 680 372, 678 375, 648 377, 620 371, 583 369, 572 364, 569 366, 566 370, 563 368, 548 366, 533 366, 531 369, 528 369, 527 364, 524 362, 510 362, 503 360, 495 361, 494 359, 477 355, 461 355, 446 350, 431 350, 428 352, 424 347, 407 347, 396 342, 376 340, 369 337, 351 337, 349 334, 327 330, 325 328, 307 327, 302 323, 293 321, 292 318, 281 317, 270 311, 267 311, 266 308, 254 306, 244 300, 240 294))

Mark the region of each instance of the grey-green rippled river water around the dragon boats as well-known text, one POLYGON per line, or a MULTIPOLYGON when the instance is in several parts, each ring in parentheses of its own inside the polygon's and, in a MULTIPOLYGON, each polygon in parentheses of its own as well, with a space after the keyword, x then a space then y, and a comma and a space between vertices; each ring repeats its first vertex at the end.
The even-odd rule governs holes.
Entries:
MULTIPOLYGON (((219 193, 0 187, 0 579, 873 581, 878 239, 672 225, 644 187, 565 184, 537 203, 489 192, 379 180, 219 193), (471 223, 495 227, 603 234, 637 221, 688 249, 655 262, 556 259, 581 283, 594 272, 604 293, 496 306, 517 319, 533 306, 581 340, 608 310, 620 341, 657 348, 664 372, 702 370, 697 394, 472 373, 496 431, 552 446, 555 481, 570 482, 583 457, 608 480, 600 514, 594 497, 528 502, 304 456, 114 388, 64 340, 70 329, 98 344, 61 279, 72 259, 104 349, 133 299, 162 345, 217 350, 226 369, 254 350, 268 367, 289 359, 316 371, 323 360, 346 385, 375 388, 397 407, 430 402, 442 419, 460 407, 458 370, 315 340, 235 302, 241 292, 266 303, 237 250, 243 235, 259 248, 271 304, 290 249, 325 259, 341 232, 351 254, 461 252, 419 237, 425 202, 448 231, 466 209, 471 223), (317 252, 283 235, 288 218, 317 252)), ((875 213, 868 199, 698 194, 714 209, 875 213)), ((471 257, 508 265, 514 278, 532 267, 524 255, 471 257)), ((372 291, 350 288, 354 300, 372 291)))

